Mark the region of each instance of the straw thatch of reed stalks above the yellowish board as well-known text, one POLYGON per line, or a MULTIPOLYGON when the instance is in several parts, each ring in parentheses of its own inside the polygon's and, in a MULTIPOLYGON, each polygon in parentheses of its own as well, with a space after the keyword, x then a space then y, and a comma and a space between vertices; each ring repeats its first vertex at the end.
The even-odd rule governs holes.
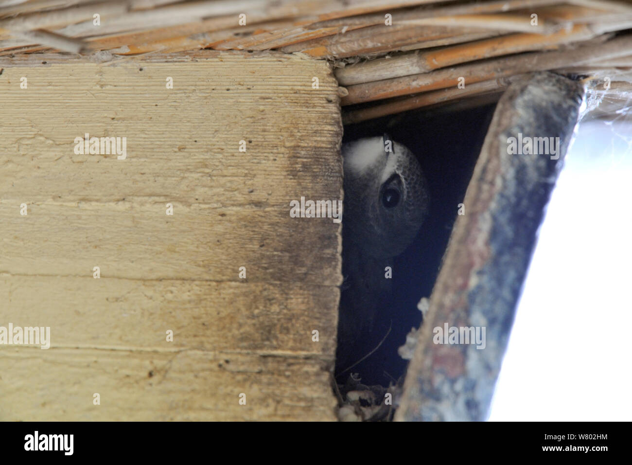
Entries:
POLYGON ((621 87, 632 81, 630 30, 621 0, 0 0, 0 56, 328 59, 347 123, 486 96, 537 70, 621 87))

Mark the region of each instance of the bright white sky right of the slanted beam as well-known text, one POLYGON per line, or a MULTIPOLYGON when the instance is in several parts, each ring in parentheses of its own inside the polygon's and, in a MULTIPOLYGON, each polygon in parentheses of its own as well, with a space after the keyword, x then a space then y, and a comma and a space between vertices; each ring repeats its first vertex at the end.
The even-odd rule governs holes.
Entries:
POLYGON ((490 421, 632 420, 632 121, 581 123, 553 191, 490 421))

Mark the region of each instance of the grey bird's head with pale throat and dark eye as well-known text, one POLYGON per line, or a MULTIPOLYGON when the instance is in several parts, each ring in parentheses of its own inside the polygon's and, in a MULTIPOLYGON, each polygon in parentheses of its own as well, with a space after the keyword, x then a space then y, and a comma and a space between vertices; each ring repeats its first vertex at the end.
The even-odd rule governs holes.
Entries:
POLYGON ((428 213, 428 189, 415 155, 386 134, 343 144, 343 231, 363 252, 394 257, 428 213))

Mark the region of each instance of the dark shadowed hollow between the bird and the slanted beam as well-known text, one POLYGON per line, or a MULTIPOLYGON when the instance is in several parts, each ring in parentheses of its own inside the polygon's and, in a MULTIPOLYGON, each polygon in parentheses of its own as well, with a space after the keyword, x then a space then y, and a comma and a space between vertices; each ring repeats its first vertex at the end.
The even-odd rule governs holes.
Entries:
POLYGON ((341 374, 347 367, 336 366, 337 383, 344 383, 349 373, 359 373, 365 385, 387 386, 404 375, 408 362, 399 357, 398 347, 421 323, 417 302, 432 292, 494 109, 495 103, 456 113, 423 109, 344 127, 343 142, 386 132, 415 153, 428 180, 430 214, 413 244, 395 259, 392 304, 380 309, 372 336, 357 344, 356 360, 375 349, 389 327, 391 332, 379 349, 351 370, 341 374))

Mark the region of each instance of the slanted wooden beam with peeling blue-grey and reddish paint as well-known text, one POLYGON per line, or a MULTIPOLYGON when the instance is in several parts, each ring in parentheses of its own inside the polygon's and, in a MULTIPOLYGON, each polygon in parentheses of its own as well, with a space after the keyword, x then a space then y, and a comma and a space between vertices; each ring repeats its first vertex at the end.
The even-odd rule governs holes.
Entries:
MULTIPOLYGON (((482 421, 507 347, 537 230, 580 116, 581 83, 538 73, 510 85, 465 195, 395 419, 482 421), (559 137, 556 154, 509 154, 509 138, 559 137), (557 158, 556 158, 557 156, 557 158), (482 344, 439 344, 435 328, 475 328, 482 344)), ((537 337, 537 335, 534 335, 537 337)), ((461 341, 463 342, 463 341, 461 341)))

